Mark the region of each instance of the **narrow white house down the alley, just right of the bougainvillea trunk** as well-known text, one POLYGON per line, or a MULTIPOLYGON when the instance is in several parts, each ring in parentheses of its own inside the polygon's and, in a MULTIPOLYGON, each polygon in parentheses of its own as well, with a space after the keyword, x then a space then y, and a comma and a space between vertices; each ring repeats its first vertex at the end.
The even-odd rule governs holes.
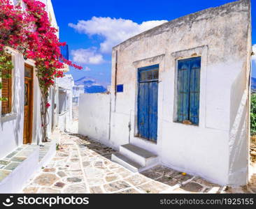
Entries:
POLYGON ((58 119, 59 130, 69 131, 72 123, 72 98, 74 81, 72 75, 58 78, 58 119))

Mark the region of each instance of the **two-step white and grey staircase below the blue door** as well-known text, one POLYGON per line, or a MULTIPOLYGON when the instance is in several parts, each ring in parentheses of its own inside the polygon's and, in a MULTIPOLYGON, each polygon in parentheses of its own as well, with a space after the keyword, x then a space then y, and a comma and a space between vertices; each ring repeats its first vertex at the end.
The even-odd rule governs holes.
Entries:
POLYGON ((119 153, 112 154, 111 160, 133 172, 145 171, 158 164, 157 155, 132 144, 121 145, 119 153))

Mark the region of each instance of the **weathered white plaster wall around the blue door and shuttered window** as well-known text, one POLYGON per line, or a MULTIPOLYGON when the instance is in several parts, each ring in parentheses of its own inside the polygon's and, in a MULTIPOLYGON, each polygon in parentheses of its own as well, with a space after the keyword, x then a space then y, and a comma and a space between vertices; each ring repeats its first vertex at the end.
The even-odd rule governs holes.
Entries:
POLYGON ((222 185, 246 184, 250 30, 250 3, 241 0, 180 17, 114 47, 112 146, 130 142, 180 171, 222 185), (124 84, 124 92, 115 97, 116 52, 117 84, 124 84), (201 56, 198 127, 173 122, 176 61, 191 56, 201 56), (158 140, 153 144, 136 137, 136 69, 157 63, 158 140))

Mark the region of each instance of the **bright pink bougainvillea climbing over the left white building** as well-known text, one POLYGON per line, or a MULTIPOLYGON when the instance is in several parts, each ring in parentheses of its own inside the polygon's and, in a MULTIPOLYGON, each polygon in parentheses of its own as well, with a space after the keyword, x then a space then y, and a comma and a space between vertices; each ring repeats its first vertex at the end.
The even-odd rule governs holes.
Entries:
MULTIPOLYGON (((4 61, 8 56, 5 47, 13 47, 23 54, 24 59, 33 59, 36 75, 41 89, 41 119, 43 141, 47 141, 48 91, 55 82, 55 77, 63 77, 64 63, 74 68, 80 66, 67 61, 59 47, 66 45, 59 42, 57 29, 51 26, 45 4, 36 0, 22 0, 24 9, 11 5, 9 0, 0 0, 0 75, 6 69, 4 61)), ((11 63, 8 63, 10 68, 11 63)), ((1 85, 0 85, 1 88, 1 85)))

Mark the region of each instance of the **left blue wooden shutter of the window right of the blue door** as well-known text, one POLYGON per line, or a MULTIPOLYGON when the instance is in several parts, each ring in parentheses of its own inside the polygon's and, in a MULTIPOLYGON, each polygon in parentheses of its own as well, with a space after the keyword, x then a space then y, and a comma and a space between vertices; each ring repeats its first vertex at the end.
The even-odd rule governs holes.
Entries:
POLYGON ((188 120, 189 110, 189 62, 178 61, 178 117, 177 121, 183 122, 188 120))

